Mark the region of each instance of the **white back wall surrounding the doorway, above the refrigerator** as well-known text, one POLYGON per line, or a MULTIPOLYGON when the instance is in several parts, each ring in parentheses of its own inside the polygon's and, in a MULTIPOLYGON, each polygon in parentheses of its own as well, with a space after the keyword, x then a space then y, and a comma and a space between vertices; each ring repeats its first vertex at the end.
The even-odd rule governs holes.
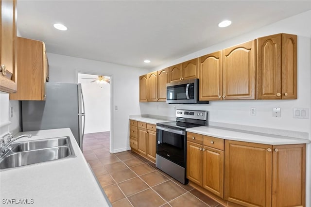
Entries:
POLYGON ((139 82, 140 74, 148 70, 110 64, 82 58, 48 53, 50 81, 76 82, 77 73, 104 74, 111 77, 111 142, 110 151, 119 152, 129 148, 129 115, 140 114, 139 82), (114 110, 114 106, 118 110, 114 110))

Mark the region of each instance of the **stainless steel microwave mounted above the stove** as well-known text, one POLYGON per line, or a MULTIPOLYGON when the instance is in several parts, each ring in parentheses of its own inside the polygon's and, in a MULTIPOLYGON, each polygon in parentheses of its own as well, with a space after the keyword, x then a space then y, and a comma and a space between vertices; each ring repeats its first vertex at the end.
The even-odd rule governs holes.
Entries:
POLYGON ((166 103, 208 104, 208 101, 199 101, 199 79, 190 79, 167 83, 166 103))

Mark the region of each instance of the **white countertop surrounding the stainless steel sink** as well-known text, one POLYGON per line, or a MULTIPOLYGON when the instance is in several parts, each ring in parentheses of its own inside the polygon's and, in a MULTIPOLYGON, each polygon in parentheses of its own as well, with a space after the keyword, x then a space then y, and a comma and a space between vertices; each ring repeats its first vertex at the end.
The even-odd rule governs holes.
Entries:
POLYGON ((107 207, 101 188, 69 128, 31 133, 19 141, 69 136, 76 157, 0 171, 1 207, 107 207), (4 204, 3 199, 33 199, 34 204, 4 204))

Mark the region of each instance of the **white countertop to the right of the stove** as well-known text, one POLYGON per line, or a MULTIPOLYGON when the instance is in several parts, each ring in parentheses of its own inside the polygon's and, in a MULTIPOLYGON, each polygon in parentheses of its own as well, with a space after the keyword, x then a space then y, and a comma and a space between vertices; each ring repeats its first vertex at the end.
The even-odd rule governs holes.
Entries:
POLYGON ((235 140, 250 143, 262 143, 262 144, 300 144, 300 143, 311 143, 308 139, 298 139, 293 137, 265 134, 259 132, 250 132, 230 128, 221 127, 193 127, 187 128, 186 131, 203 134, 211 137, 222 138, 225 140, 235 140))

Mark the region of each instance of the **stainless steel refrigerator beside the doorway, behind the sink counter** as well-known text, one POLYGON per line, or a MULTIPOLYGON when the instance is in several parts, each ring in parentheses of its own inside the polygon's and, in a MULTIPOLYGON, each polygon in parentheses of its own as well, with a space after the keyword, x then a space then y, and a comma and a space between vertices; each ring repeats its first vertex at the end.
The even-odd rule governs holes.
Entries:
POLYGON ((85 107, 81 84, 46 83, 45 101, 22 101, 22 130, 70 128, 81 150, 85 107))

